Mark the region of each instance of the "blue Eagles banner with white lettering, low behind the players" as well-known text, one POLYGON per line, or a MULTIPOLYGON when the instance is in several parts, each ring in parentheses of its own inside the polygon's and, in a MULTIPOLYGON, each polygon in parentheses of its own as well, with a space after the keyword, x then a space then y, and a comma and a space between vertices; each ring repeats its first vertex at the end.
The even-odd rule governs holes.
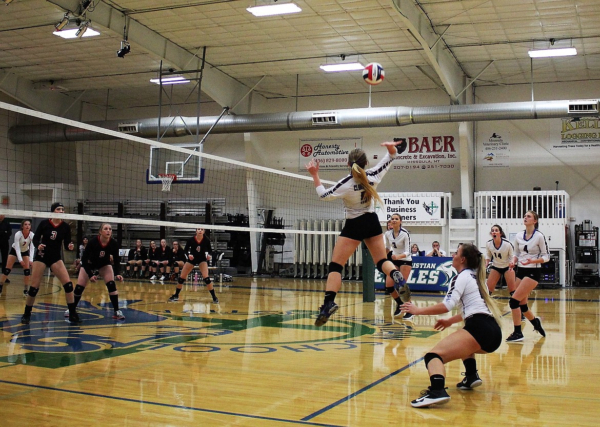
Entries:
MULTIPOLYGON (((458 273, 450 257, 412 257, 413 266, 406 282, 413 291, 448 291, 451 279, 458 273)), ((375 288, 385 288, 385 276, 375 269, 375 288)))

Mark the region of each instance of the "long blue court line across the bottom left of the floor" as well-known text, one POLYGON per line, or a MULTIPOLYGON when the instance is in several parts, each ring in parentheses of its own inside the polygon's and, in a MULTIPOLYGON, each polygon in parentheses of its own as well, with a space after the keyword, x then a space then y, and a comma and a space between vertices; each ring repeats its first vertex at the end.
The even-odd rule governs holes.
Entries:
POLYGON ((77 392, 75 390, 59 389, 58 387, 36 386, 34 384, 17 383, 15 381, 0 380, 0 383, 11 384, 13 386, 31 387, 34 389, 41 389, 41 390, 50 390, 53 392, 73 393, 74 395, 84 395, 84 396, 91 396, 91 397, 96 397, 96 398, 113 399, 113 400, 121 401, 121 402, 125 401, 125 402, 132 402, 132 403, 136 403, 136 404, 143 403, 143 404, 147 404, 147 405, 155 405, 155 406, 160 406, 160 407, 164 407, 164 408, 184 409, 184 410, 189 410, 189 411, 198 411, 198 412, 205 412, 205 413, 210 413, 210 414, 230 415, 230 416, 235 416, 235 417, 243 417, 243 418, 250 418, 250 419, 256 419, 256 420, 277 421, 277 422, 282 422, 282 423, 293 423, 293 424, 307 425, 307 426, 346 427, 346 426, 337 425, 337 424, 308 422, 308 421, 305 421, 304 419, 289 420, 289 419, 285 419, 285 418, 266 417, 266 416, 242 414, 242 413, 236 413, 236 412, 217 411, 217 410, 204 409, 204 408, 194 408, 194 407, 190 407, 190 406, 172 405, 172 404, 166 404, 166 403, 161 403, 161 402, 145 401, 145 400, 141 400, 141 399, 122 398, 122 397, 118 397, 118 396, 101 395, 99 393, 77 392))

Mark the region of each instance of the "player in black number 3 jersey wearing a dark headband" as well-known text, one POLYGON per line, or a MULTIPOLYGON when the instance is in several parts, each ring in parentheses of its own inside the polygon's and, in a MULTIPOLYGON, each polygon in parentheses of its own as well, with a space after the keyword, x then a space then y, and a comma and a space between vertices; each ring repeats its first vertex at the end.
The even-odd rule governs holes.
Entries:
MULTIPOLYGON (((65 207, 62 203, 56 202, 52 204, 50 212, 64 213, 65 207)), ((28 324, 31 321, 31 310, 34 306, 35 296, 40 290, 41 278, 46 267, 50 267, 56 278, 63 284, 69 322, 80 323, 73 297, 73 282, 71 282, 67 267, 65 267, 61 258, 61 244, 68 251, 73 251, 75 248, 73 240, 71 240, 70 225, 62 221, 61 218, 44 219, 35 230, 32 242, 37 250, 31 267, 31 285, 25 300, 25 312, 21 317, 21 323, 28 324)))

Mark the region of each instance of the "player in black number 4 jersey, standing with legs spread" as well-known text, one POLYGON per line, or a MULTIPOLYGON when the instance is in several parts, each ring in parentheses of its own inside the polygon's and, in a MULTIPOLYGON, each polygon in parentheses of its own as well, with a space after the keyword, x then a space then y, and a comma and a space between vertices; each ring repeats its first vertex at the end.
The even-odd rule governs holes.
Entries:
POLYGON ((185 243, 185 253, 187 254, 188 259, 185 261, 179 279, 177 279, 175 293, 169 297, 168 301, 174 302, 179 300, 179 293, 184 287, 185 279, 194 266, 198 266, 200 273, 202 273, 202 280, 206 283, 206 289, 211 293, 212 302, 215 304, 219 303, 211 278, 208 276, 208 261, 211 260, 211 252, 211 240, 205 236, 204 228, 196 228, 196 235, 190 237, 187 243, 185 243), (208 255, 206 255, 206 252, 208 252, 208 255))

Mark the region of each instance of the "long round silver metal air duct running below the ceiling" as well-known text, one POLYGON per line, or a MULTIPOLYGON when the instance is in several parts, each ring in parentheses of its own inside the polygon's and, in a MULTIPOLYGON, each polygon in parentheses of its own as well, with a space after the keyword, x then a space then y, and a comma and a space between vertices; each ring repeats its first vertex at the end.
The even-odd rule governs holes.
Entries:
MULTIPOLYGON (((160 135, 182 137, 196 131, 211 133, 280 132, 343 128, 397 127, 411 124, 477 122, 490 120, 549 119, 598 116, 599 100, 530 101, 431 107, 377 107, 315 112, 291 112, 200 117, 168 117, 160 121, 160 135)), ((97 121, 91 125, 155 139, 159 119, 139 121, 97 121)), ((14 144, 94 141, 117 139, 63 124, 17 125, 8 130, 14 144)))

